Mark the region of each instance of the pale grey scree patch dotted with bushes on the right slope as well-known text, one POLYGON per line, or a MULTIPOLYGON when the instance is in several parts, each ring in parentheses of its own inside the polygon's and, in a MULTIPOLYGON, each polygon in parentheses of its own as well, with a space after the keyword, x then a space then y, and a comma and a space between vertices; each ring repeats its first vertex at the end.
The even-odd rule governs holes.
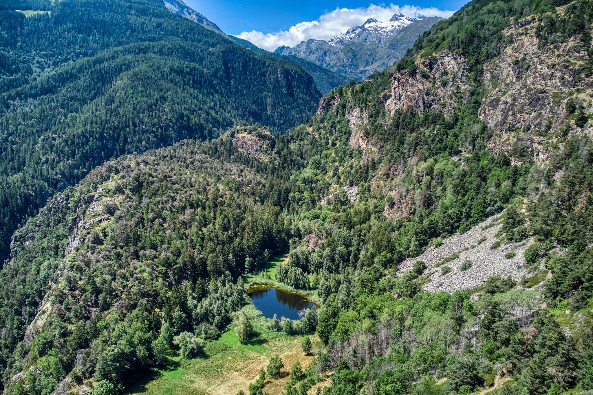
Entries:
POLYGON ((397 275, 412 269, 416 261, 424 261, 426 270, 424 275, 428 276, 430 282, 422 289, 425 291, 447 291, 472 290, 485 284, 490 276, 498 274, 500 277, 511 276, 515 280, 521 279, 523 275, 528 276, 525 269, 525 258, 523 252, 533 244, 533 240, 527 239, 519 243, 502 244, 498 248, 490 249, 497 240, 496 233, 500 232, 503 220, 500 214, 490 217, 486 221, 477 224, 463 235, 457 234, 444 240, 439 248, 430 246, 422 255, 416 258, 409 258, 398 267, 397 275), (487 228, 482 230, 483 228, 487 228), (514 258, 507 259, 506 253, 514 251, 514 258), (457 253, 459 257, 443 264, 451 267, 451 272, 442 274, 441 268, 434 265, 442 262, 443 259, 457 253), (465 261, 471 262, 471 268, 461 271, 465 261))

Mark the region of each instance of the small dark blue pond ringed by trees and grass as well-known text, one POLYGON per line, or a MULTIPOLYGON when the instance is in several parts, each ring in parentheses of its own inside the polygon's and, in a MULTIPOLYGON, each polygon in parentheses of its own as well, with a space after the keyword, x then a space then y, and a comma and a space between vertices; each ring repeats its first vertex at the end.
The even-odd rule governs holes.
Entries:
POLYGON ((262 311, 266 318, 286 317, 291 320, 301 319, 299 310, 313 308, 313 303, 298 294, 291 294, 278 288, 260 288, 248 291, 251 303, 262 311))

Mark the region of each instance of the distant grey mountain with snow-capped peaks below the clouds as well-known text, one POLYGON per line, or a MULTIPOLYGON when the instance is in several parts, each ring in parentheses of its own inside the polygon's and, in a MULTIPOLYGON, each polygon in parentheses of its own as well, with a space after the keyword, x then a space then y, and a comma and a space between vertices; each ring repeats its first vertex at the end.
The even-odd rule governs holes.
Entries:
POLYGON ((388 22, 369 18, 361 26, 330 40, 307 40, 275 53, 294 55, 349 79, 365 79, 380 72, 406 53, 420 34, 443 18, 409 18, 395 14, 388 22))

